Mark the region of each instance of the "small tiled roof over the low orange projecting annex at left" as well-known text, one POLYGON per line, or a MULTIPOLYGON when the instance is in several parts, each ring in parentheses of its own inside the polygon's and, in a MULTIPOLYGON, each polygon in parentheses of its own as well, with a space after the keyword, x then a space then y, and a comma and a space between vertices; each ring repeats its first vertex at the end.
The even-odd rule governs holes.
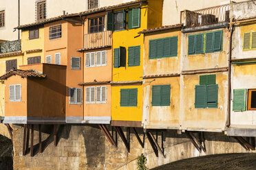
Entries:
POLYGON ((34 77, 34 78, 45 78, 46 75, 43 73, 40 73, 39 71, 34 71, 34 70, 11 70, 5 73, 0 77, 0 80, 6 80, 8 77, 12 75, 19 75, 21 77, 34 77))

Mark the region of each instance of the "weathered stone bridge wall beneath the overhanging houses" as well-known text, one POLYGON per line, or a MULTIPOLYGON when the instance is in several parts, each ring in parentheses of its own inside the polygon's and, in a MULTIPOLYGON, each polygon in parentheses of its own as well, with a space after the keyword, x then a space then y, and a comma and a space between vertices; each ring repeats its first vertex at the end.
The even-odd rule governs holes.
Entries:
MULTIPOLYGON (((136 169, 136 158, 143 153, 147 157, 147 167, 152 169, 198 156, 255 152, 255 138, 234 138, 217 132, 178 134, 177 130, 149 130, 150 133, 144 135, 142 128, 136 128, 141 140, 139 143, 136 133, 131 128, 122 128, 125 139, 128 139, 128 152, 127 146, 114 128, 107 127, 117 147, 109 142, 98 125, 58 125, 54 146, 53 125, 43 125, 42 153, 39 153, 39 129, 34 125, 34 134, 30 131, 34 138, 30 138, 23 156, 24 127, 11 126, 13 154, 8 128, 6 125, 0 125, 0 165, 5 163, 10 169, 12 155, 13 169, 136 169), (153 143, 149 138, 153 138, 153 143)), ((205 163, 207 165, 207 161, 205 163)))

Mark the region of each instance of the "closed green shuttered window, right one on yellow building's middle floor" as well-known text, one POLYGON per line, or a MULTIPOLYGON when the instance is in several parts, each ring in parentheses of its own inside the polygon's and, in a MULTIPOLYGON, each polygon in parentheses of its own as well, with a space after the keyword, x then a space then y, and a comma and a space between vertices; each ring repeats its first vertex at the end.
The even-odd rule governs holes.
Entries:
POLYGON ((128 47, 128 66, 140 65, 140 45, 128 47))

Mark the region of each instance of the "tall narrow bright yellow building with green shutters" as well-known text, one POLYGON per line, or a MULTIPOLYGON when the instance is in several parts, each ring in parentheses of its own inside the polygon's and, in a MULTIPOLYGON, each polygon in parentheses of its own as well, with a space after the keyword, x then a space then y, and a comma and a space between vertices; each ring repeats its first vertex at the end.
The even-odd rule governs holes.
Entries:
POLYGON ((111 125, 141 127, 143 29, 162 25, 162 1, 135 1, 107 14, 113 31, 111 125))

